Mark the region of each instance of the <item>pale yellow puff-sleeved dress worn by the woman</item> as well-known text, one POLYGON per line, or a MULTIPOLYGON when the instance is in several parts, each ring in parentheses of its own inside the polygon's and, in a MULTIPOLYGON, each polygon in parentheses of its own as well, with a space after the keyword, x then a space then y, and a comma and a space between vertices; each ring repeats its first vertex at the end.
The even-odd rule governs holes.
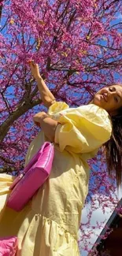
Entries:
MULTIPOLYGON (((18 236, 17 256, 78 256, 79 222, 87 196, 89 167, 111 135, 108 113, 93 104, 69 108, 55 102, 49 109, 57 120, 54 164, 50 178, 19 213, 6 206, 13 177, 0 175, 0 236, 18 236)), ((28 148, 25 165, 45 141, 43 132, 28 148)))

